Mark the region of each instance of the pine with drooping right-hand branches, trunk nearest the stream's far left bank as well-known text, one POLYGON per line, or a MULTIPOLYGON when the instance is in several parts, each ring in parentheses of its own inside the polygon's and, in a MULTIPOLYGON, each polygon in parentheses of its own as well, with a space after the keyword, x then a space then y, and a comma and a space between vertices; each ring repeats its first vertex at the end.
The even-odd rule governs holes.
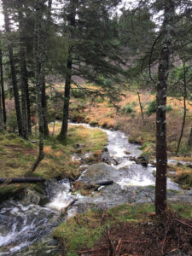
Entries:
MULTIPOLYGON (((110 19, 113 6, 113 1, 71 0, 64 9, 68 57, 61 139, 67 137, 70 87, 74 75, 101 85, 102 90, 97 90, 97 93, 105 93, 112 101, 119 95, 116 84, 122 68, 119 64, 117 20, 110 19)), ((81 88, 79 84, 78 88, 81 88)))

